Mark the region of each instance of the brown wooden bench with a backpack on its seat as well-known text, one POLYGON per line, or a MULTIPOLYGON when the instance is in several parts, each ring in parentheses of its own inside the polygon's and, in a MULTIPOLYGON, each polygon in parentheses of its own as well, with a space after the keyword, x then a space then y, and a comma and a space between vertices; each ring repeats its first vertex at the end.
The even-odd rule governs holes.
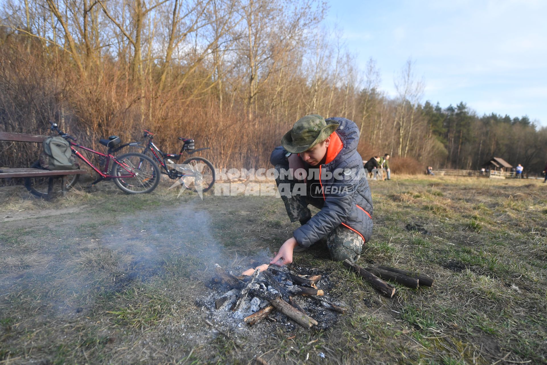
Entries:
MULTIPOLYGON (((45 138, 49 136, 32 135, 25 133, 10 133, 0 132, 0 141, 14 141, 14 142, 36 142, 42 143, 45 138)), ((38 159, 38 157, 37 157, 38 159)), ((67 176, 85 173, 85 170, 42 170, 32 169, 30 167, 23 168, 0 168, 0 178, 9 177, 46 177, 49 176, 48 182, 48 196, 46 199, 53 198, 53 181, 55 177, 61 177, 61 195, 66 196, 67 192, 67 176)))

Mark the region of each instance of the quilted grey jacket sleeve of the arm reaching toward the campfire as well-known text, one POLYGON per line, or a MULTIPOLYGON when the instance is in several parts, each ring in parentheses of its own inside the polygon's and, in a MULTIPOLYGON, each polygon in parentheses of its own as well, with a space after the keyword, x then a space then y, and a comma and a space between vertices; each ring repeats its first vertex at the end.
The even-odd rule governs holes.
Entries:
MULTIPOLYGON (((361 167, 357 166, 352 170, 359 171, 360 169, 361 167)), ((309 247, 327 236, 350 214, 357 184, 353 174, 353 176, 341 175, 342 179, 329 184, 333 189, 330 194, 325 195, 323 208, 306 224, 294 230, 293 236, 300 246, 309 247), (335 187, 336 189, 334 189, 335 187)))

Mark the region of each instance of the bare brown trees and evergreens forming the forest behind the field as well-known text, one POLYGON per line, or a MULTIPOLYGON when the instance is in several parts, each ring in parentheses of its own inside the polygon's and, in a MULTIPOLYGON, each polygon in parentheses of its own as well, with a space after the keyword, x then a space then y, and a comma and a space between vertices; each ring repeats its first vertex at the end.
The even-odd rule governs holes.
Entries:
MULTIPOLYGON (((355 121, 363 158, 391 153, 394 172, 478 169, 494 155, 542 170, 545 128, 424 102, 412 60, 387 95, 376 62, 360 69, 325 27, 327 11, 316 0, 0 0, 0 131, 46 134, 54 119, 96 146, 148 129, 168 152, 192 137, 217 167, 251 168, 317 113, 355 121)), ((2 166, 33 158, 2 146, 2 166)))

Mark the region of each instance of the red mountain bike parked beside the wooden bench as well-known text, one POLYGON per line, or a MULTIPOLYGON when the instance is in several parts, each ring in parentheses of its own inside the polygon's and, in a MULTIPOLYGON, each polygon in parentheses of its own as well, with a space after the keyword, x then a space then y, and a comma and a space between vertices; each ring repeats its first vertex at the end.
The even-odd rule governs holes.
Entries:
MULTIPOLYGON (((132 144, 138 143, 126 143, 118 148, 121 140, 118 136, 110 136, 108 139, 99 140, 101 144, 108 147, 108 152, 106 154, 98 152, 88 147, 84 147, 80 144, 75 143, 76 138, 71 135, 62 132, 57 128, 57 124, 52 121, 51 130, 57 131, 59 135, 71 144, 72 153, 75 154, 78 158, 84 161, 84 163, 95 170, 100 176, 96 181, 91 183, 91 186, 94 186, 96 183, 102 180, 114 180, 114 183, 128 194, 143 194, 152 192, 160 182, 160 170, 154 161, 148 156, 143 155, 142 153, 130 152, 125 153, 121 156, 114 156, 113 153, 116 153, 121 148, 130 146, 132 144), (69 141, 72 140, 72 141, 69 141), (76 148, 81 148, 90 153, 96 154, 99 156, 99 167, 92 164, 88 159, 84 157, 76 148), (110 167, 112 165, 112 167, 110 167), (102 167, 102 170, 100 169, 102 167)), ((40 168, 40 163, 37 161, 31 167, 40 168)), ((78 181, 79 175, 72 175, 71 179, 67 181, 67 188, 72 188, 74 184, 78 181)), ((25 178, 25 187, 32 194, 43 198, 48 195, 48 179, 47 178, 25 178)))

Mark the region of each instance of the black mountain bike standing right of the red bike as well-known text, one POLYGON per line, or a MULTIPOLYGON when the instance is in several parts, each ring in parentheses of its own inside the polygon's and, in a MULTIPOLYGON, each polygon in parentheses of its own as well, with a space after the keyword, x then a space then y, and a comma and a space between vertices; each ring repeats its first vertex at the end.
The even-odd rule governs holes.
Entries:
POLYGON ((190 157, 184 160, 181 164, 177 161, 181 159, 184 152, 192 155, 198 151, 210 149, 210 147, 203 147, 195 149, 194 140, 191 138, 178 137, 183 142, 182 148, 179 153, 164 153, 161 149, 154 144, 154 134, 150 131, 144 130, 143 144, 140 147, 144 147, 142 153, 144 155, 151 154, 152 158, 158 161, 160 165, 160 172, 167 175, 173 180, 179 180, 185 188, 192 190, 193 192, 203 192, 211 189, 214 184, 214 167, 211 161, 203 157, 190 157), (148 140, 148 142, 146 142, 148 140))

